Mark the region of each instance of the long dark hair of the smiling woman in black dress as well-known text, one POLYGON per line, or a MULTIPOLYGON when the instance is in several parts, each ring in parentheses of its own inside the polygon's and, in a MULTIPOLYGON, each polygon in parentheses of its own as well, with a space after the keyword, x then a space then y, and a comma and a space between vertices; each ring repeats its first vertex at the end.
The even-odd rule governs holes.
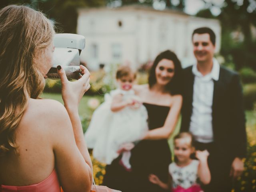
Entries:
POLYGON ((149 77, 148 77, 148 84, 149 87, 152 88, 154 84, 156 84, 156 66, 162 59, 171 60, 174 63, 174 76, 170 80, 168 84, 166 84, 166 90, 170 92, 170 94, 181 94, 182 91, 182 67, 180 64, 180 60, 176 56, 176 54, 170 50, 166 50, 161 52, 156 59, 150 69, 149 77))

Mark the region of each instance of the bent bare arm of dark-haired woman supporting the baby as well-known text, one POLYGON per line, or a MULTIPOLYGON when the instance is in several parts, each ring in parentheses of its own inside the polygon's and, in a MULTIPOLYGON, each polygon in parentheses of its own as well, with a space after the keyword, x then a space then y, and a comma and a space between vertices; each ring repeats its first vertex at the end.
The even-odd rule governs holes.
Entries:
POLYGON ((182 106, 182 96, 173 96, 173 103, 168 113, 168 116, 164 122, 164 126, 148 131, 144 139, 159 140, 167 139, 172 134, 180 115, 180 109, 182 106))

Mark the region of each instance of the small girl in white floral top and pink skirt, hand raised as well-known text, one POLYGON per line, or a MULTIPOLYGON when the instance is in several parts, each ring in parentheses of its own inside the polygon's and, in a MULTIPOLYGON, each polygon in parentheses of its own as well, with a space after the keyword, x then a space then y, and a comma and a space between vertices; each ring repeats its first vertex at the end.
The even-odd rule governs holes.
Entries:
POLYGON ((170 180, 166 184, 158 176, 150 174, 150 182, 172 192, 202 192, 197 180, 202 184, 209 184, 211 180, 208 168, 208 151, 196 151, 193 146, 193 136, 182 132, 174 137, 175 161, 169 165, 170 180), (196 155, 198 160, 192 160, 191 155, 196 155))

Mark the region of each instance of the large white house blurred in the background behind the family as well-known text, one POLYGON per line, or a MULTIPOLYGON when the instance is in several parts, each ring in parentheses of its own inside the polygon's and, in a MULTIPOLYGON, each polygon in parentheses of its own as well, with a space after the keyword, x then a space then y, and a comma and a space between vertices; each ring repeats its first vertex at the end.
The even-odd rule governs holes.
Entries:
POLYGON ((215 19, 140 5, 79 9, 77 33, 86 38, 80 58, 91 69, 97 69, 101 63, 130 63, 138 68, 153 61, 161 51, 170 49, 187 66, 194 62, 192 32, 202 26, 216 33, 218 52, 221 27, 215 19))

